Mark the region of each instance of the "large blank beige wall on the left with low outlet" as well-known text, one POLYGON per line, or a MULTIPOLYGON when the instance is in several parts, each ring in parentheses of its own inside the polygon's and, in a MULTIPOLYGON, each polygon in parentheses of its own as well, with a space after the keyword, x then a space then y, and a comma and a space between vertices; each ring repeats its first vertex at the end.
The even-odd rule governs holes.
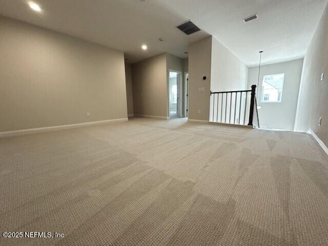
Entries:
POLYGON ((1 16, 0 51, 0 132, 127 118, 123 52, 1 16))

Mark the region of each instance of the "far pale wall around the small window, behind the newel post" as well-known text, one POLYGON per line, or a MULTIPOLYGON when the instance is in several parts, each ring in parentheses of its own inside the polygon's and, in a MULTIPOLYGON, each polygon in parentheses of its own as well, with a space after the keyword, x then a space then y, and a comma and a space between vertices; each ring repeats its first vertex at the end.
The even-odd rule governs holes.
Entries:
MULTIPOLYGON (((303 59, 261 66, 257 105, 260 127, 294 130, 303 59), (281 103, 261 103, 264 75, 284 73, 281 103)), ((257 85, 258 67, 249 68, 248 87, 257 85)))

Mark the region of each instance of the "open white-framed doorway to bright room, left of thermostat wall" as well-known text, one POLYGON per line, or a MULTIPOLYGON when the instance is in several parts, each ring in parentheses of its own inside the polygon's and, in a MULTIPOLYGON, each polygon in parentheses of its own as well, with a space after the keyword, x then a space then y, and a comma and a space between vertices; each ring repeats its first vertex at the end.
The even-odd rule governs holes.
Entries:
POLYGON ((170 119, 180 118, 182 116, 181 107, 181 72, 169 70, 169 112, 170 119))

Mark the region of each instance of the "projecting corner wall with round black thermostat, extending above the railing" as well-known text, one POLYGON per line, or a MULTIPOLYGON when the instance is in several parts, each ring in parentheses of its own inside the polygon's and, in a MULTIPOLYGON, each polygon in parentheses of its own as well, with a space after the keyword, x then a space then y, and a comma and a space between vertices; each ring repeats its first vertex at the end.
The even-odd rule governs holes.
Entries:
POLYGON ((211 91, 244 90, 248 67, 213 36, 189 46, 189 118, 209 121, 211 91), (206 76, 206 80, 202 77, 206 76))

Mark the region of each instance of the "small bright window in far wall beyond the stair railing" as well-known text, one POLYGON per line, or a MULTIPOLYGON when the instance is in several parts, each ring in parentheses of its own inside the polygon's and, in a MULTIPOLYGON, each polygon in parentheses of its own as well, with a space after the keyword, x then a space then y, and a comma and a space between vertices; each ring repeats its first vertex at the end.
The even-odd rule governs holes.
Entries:
POLYGON ((280 103, 284 73, 264 75, 262 81, 262 103, 280 103))

